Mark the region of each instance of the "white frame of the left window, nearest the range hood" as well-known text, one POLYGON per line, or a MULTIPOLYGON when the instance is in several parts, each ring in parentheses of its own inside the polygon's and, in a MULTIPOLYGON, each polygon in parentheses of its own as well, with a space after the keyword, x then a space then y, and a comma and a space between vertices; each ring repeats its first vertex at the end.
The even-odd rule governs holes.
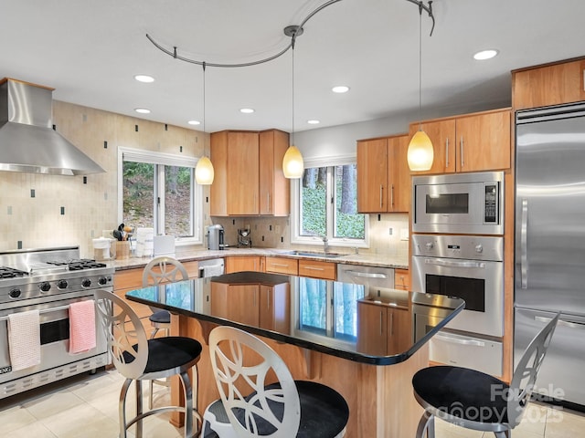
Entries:
MULTIPOLYGON (((191 218, 193 220, 193 236, 192 237, 176 237, 176 245, 203 245, 203 187, 195 182, 195 167, 198 159, 194 157, 184 157, 182 155, 174 155, 171 153, 144 151, 140 149, 132 149, 125 147, 118 147, 118 223, 123 220, 123 162, 146 162, 150 164, 180 166, 193 168, 193 178, 191 180, 191 218), (199 205, 198 209, 196 206, 199 205), (196 212, 198 211, 198 214, 196 212)), ((165 193, 165 178, 162 166, 159 168, 159 174, 156 181, 158 185, 154 187, 154 199, 160 197, 156 216, 154 221, 156 229, 155 235, 162 235, 165 233, 165 196, 160 196, 159 193, 165 193)))

